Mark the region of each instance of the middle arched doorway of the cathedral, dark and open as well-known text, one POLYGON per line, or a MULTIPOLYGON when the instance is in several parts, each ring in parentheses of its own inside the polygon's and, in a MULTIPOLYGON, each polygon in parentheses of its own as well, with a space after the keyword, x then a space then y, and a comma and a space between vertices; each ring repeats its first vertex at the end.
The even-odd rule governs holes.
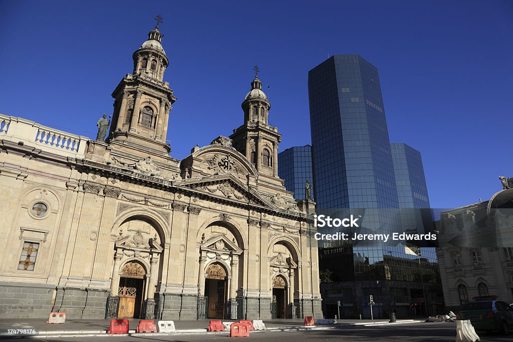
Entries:
POLYGON ((221 264, 213 263, 207 266, 205 270, 205 296, 208 297, 208 318, 224 318, 227 283, 228 273, 221 264))

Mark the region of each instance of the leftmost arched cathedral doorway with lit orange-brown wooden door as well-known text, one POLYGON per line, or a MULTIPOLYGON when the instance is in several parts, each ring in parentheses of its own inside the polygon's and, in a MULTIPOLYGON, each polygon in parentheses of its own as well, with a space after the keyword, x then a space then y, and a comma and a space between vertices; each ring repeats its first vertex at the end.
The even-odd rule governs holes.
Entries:
POLYGON ((120 296, 119 318, 141 317, 145 292, 146 270, 136 261, 129 261, 122 268, 120 285, 117 290, 120 296))

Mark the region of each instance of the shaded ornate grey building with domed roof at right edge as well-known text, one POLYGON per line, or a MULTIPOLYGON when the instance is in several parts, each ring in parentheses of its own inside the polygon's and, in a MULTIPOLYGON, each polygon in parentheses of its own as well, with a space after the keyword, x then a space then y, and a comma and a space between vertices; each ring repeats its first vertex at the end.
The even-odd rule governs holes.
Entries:
POLYGON ((437 222, 445 306, 495 296, 513 302, 513 178, 489 200, 447 210, 437 222))

